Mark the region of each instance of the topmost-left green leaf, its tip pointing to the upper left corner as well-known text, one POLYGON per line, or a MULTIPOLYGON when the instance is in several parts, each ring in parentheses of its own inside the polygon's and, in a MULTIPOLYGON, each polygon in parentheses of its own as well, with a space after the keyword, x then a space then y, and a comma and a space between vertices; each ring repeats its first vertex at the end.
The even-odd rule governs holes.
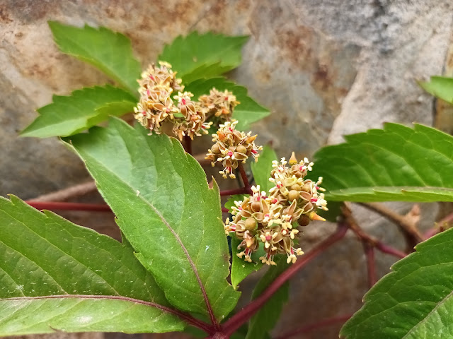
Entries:
POLYGON ((85 25, 78 28, 56 21, 49 21, 49 26, 63 53, 96 66, 138 97, 137 79, 142 67, 134 58, 127 37, 103 27, 96 29, 85 25))

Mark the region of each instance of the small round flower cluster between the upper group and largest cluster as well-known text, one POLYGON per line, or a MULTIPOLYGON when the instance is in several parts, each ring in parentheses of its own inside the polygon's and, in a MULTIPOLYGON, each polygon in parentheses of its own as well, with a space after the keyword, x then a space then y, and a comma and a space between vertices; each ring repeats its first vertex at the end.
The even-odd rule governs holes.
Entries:
POLYGON ((258 150, 262 150, 262 146, 255 145, 255 136, 251 136, 251 132, 243 133, 236 130, 238 121, 226 121, 219 125, 217 133, 212 134, 214 145, 208 150, 205 159, 211 161, 214 167, 216 162, 221 162, 224 166, 220 174, 226 179, 229 177, 234 179, 236 176, 233 170, 239 165, 239 161, 246 162, 248 157, 253 156, 255 161, 258 160, 258 150))

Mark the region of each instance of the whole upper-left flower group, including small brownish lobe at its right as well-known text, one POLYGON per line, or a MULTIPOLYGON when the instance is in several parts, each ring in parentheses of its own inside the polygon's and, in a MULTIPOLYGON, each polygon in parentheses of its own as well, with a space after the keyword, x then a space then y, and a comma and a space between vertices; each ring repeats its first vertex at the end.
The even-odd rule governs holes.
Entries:
POLYGON ((159 66, 149 66, 138 82, 140 99, 134 107, 134 118, 150 133, 156 134, 161 133, 165 122, 169 122, 180 140, 184 136, 193 139, 207 134, 212 125, 212 121, 207 122, 207 119, 231 120, 234 107, 239 104, 233 93, 215 88, 209 95, 201 95, 199 101, 193 100, 193 93, 183 92, 181 79, 176 78, 176 72, 164 61, 159 61, 159 66))

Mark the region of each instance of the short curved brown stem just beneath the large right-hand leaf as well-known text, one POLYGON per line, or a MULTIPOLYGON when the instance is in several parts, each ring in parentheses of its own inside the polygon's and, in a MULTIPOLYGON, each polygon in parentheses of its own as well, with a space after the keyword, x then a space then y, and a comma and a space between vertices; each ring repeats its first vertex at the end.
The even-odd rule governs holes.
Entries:
POLYGON ((408 222, 408 220, 404 218, 403 215, 394 212, 390 208, 382 205, 382 203, 360 203, 360 205, 365 206, 369 210, 372 210, 376 213, 379 213, 380 215, 398 225, 403 234, 406 234, 408 246, 413 247, 419 242, 423 242, 423 235, 420 234, 415 224, 413 222, 408 222))

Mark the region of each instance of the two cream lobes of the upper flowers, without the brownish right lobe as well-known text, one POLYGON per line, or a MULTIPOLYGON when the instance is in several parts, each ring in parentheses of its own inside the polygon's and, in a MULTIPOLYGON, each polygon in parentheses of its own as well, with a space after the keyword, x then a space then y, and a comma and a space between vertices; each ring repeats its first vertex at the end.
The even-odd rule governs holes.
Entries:
POLYGON ((159 66, 152 64, 138 82, 140 100, 134 107, 134 117, 150 133, 159 134, 165 121, 174 124, 173 133, 180 140, 183 136, 193 139, 208 133, 210 123, 205 122, 208 109, 193 101, 192 93, 181 92, 184 86, 181 79, 176 78, 170 64, 164 61, 159 61, 159 66), (173 95, 174 91, 178 91, 178 95, 173 95), (172 95, 178 105, 173 103, 172 95))

